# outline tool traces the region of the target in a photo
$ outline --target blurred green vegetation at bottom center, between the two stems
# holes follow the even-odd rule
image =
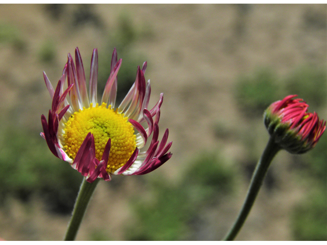
[[[196,239],[198,215],[233,192],[235,171],[217,153],[203,153],[189,166],[177,184],[153,180],[153,200],[131,200],[137,225],[126,229],[128,240]]]

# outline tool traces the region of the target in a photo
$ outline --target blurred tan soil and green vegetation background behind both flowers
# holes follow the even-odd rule
[[[244,201],[268,133],[268,105],[298,94],[327,119],[326,5],[0,5],[0,237],[61,240],[82,181],[52,155],[40,117],[67,53],[99,95],[114,47],[118,100],[148,61],[150,106],[172,158],[145,176],[100,182],[77,240],[220,240]],[[237,240],[326,240],[327,134],[279,152]]]

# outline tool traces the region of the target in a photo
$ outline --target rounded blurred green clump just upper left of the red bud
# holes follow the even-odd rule
[[[251,76],[241,76],[236,84],[235,97],[240,110],[248,117],[261,116],[278,100],[276,75],[269,68],[260,68]]]

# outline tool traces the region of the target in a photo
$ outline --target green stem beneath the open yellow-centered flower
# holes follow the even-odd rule
[[[89,183],[83,178],[80,190],[78,192],[78,196],[75,202],[73,214],[71,221],[69,222],[66,235],[64,240],[65,241],[73,241],[75,240],[76,234],[78,229],[81,225],[82,219],[84,217],[87,205],[92,197],[94,190],[99,183],[99,178],[97,178],[94,182]]]

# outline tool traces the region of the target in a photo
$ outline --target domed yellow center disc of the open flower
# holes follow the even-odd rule
[[[96,146],[96,158],[101,160],[108,139],[111,139],[111,149],[107,164],[107,172],[122,167],[136,148],[134,128],[124,117],[107,108],[107,104],[98,104],[76,111],[69,117],[65,126],[64,148],[69,157],[74,159],[86,135],[91,132]]]

